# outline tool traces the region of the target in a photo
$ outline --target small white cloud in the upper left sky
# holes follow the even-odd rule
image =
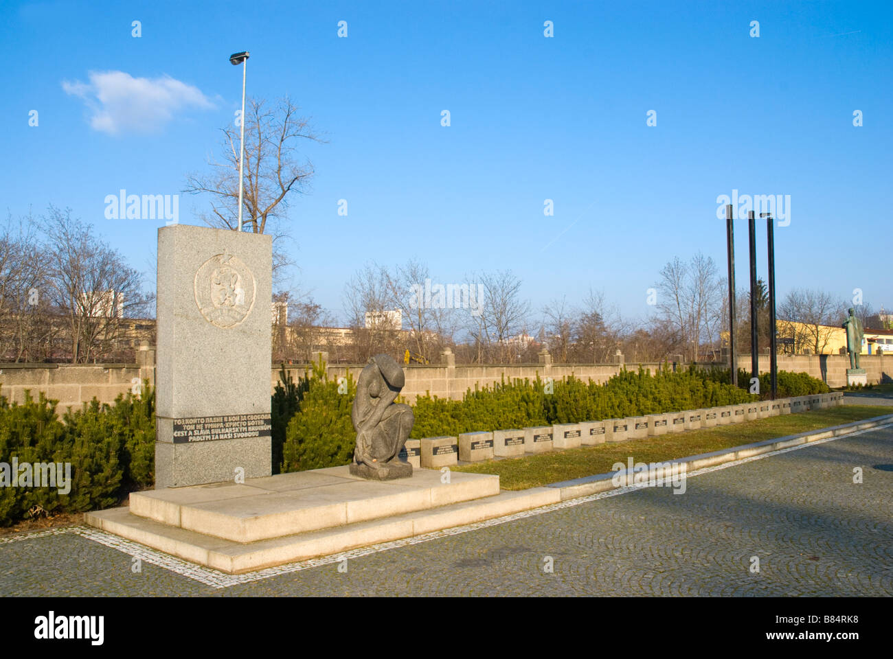
[[[63,80],[62,88],[84,100],[94,130],[110,134],[126,129],[153,131],[181,109],[213,108],[198,88],[167,75],[149,79],[124,71],[89,71],[88,76],[89,84]]]

